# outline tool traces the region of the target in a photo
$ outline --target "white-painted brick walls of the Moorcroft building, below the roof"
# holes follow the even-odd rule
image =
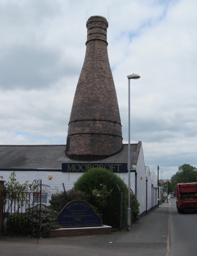
[[[144,157],[143,157],[143,149],[141,147],[139,152],[139,158],[136,166],[137,172],[137,199],[140,203],[139,210],[140,214],[146,211],[146,177],[148,179],[147,182],[147,210],[152,207],[152,184],[157,187],[157,175],[153,172],[152,175],[150,173],[150,169],[145,168]],[[147,169],[147,170],[146,170]],[[4,181],[9,180],[9,175],[11,171],[0,171],[0,176],[3,176]],[[65,185],[66,190],[70,190],[73,187],[73,183],[80,177],[83,173],[66,173],[60,171],[16,171],[16,179],[20,184],[32,183],[34,179],[41,179],[42,184],[47,186],[47,190],[56,190],[62,191],[63,185]],[[52,175],[52,179],[48,179],[48,176]],[[128,173],[118,173],[117,174],[128,186]],[[130,175],[131,189],[135,192],[135,173],[131,173]],[[48,187],[49,186],[49,187]]]

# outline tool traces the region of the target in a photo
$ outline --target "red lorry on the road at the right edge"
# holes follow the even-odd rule
[[[178,183],[175,194],[178,213],[197,212],[197,183]]]

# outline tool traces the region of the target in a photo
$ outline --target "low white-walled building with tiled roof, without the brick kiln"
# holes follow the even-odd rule
[[[91,166],[101,166],[114,171],[128,184],[128,144],[118,154],[100,161],[73,161],[65,155],[66,145],[0,145],[0,176],[8,181],[15,171],[20,184],[41,179],[46,190],[54,194],[72,188],[73,183]],[[140,203],[144,215],[157,205],[157,175],[145,166],[141,141],[131,144],[131,189]],[[123,169],[121,169],[123,166]],[[117,168],[118,167],[118,168]]]

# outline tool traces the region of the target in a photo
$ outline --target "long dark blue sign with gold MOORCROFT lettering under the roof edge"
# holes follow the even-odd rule
[[[115,173],[126,173],[127,164],[95,164],[95,163],[72,163],[72,164],[62,164],[63,172],[84,172],[92,168],[104,168]]]

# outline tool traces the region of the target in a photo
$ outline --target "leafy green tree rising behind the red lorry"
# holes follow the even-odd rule
[[[178,167],[178,171],[171,177],[171,183],[173,189],[177,186],[177,183],[190,183],[197,182],[197,168],[190,164],[183,164]]]

